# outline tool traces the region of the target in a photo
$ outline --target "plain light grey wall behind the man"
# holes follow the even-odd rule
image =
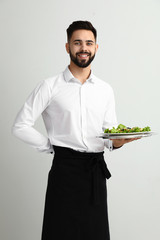
[[[159,131],[159,0],[0,0],[0,239],[39,240],[52,156],[11,135],[39,81],[63,71],[66,28],[89,20],[98,30],[94,73],[115,92],[118,121]],[[45,133],[40,119],[36,128]],[[111,240],[160,239],[159,136],[105,156]]]

